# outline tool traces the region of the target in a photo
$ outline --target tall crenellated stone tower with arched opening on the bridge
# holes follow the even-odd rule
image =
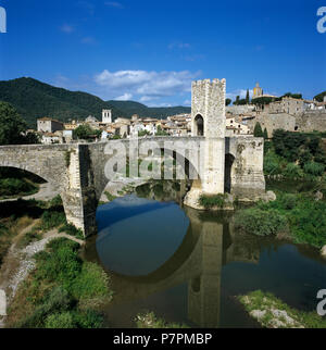
[[[225,173],[225,79],[192,83],[191,133],[204,137],[201,153],[201,189],[206,195],[224,193]]]

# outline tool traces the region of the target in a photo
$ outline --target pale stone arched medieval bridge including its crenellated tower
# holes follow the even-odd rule
[[[252,136],[225,137],[225,80],[195,82],[191,113],[192,137],[4,146],[0,147],[0,166],[26,170],[51,183],[61,193],[67,221],[86,236],[96,232],[98,202],[113,176],[108,168],[124,165],[125,155],[152,157],[164,149],[165,160],[173,157],[183,163],[185,175],[195,175],[185,199],[192,208],[198,208],[202,193],[226,191],[239,200],[263,196],[264,141]]]

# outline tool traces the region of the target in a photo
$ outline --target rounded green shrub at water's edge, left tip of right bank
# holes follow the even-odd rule
[[[235,225],[248,234],[268,236],[285,230],[287,220],[275,209],[264,211],[251,208],[236,213]]]

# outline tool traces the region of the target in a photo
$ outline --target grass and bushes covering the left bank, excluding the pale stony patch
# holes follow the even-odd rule
[[[17,200],[0,203],[0,268],[11,247],[17,252],[14,270],[22,259],[24,261],[20,255],[38,241],[47,242],[49,233],[53,232],[54,237],[49,237],[45,250],[32,254],[35,266],[20,283],[9,304],[4,326],[102,327],[103,316],[99,308],[112,299],[110,279],[100,265],[79,257],[84,236],[66,223],[61,198],[58,196],[49,202]],[[24,228],[27,232],[20,235]]]

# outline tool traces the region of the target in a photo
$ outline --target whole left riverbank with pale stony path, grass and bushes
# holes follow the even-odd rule
[[[0,264],[0,289],[7,295],[8,316],[0,320],[0,327],[4,327],[4,323],[5,327],[100,327],[102,317],[96,308],[102,297],[105,301],[112,297],[109,278],[99,265],[79,258],[79,248],[85,241],[78,238],[82,238],[79,230],[67,225],[61,199],[18,200],[1,205],[0,238],[7,250],[2,252]],[[9,227],[13,223],[15,229]],[[74,284],[80,283],[80,286],[70,290],[62,276],[74,276]],[[57,298],[63,298],[60,310],[71,314],[53,315],[52,307],[53,312],[47,309],[51,302],[58,305]],[[29,318],[38,317],[42,308],[48,311],[33,323]],[[55,323],[57,316],[61,324]]]

